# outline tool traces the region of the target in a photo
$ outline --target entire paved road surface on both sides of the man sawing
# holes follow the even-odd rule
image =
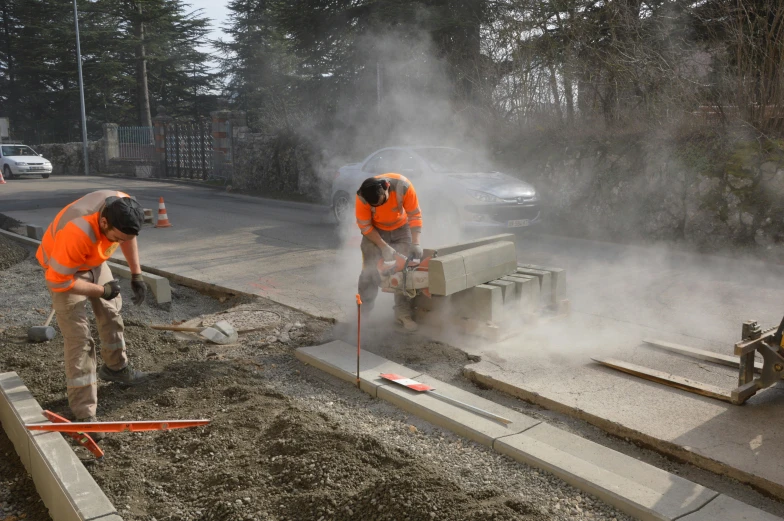
[[[46,226],[68,202],[109,187],[127,190],[148,208],[166,199],[174,227],[144,230],[143,263],[315,315],[350,319],[356,312],[358,248],[344,245],[324,207],[157,181],[74,177],[9,182],[0,192],[0,213]],[[439,245],[427,235],[423,240]],[[767,327],[781,320],[784,267],[537,234],[522,236],[517,251],[520,263],[567,270],[573,314],[499,344],[442,338],[482,358],[470,367],[477,378],[784,497],[784,469],[773,457],[784,442],[784,420],[776,415],[784,393],[773,388],[743,407],[730,406],[590,361],[612,356],[729,388],[732,370],[665,355],[641,340],[731,354],[744,320]],[[380,315],[389,307],[376,309]]]

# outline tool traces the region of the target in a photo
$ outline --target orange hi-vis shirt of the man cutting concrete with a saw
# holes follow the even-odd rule
[[[389,198],[381,206],[370,206],[357,193],[355,213],[357,226],[362,235],[367,235],[374,228],[379,230],[397,230],[408,223],[412,231],[422,230],[422,210],[411,181],[400,174],[381,174],[377,179],[389,181]]]

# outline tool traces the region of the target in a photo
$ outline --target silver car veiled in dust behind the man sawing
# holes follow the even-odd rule
[[[394,172],[414,184],[422,214],[463,228],[523,228],[540,222],[533,186],[484,167],[474,156],[448,147],[389,147],[340,168],[332,181],[332,212],[339,223],[354,219],[362,181]]]

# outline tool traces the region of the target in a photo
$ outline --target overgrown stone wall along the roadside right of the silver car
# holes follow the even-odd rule
[[[572,234],[784,249],[784,151],[731,147],[572,144],[519,166],[550,225]]]

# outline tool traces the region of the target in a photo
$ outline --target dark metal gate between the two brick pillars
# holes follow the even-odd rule
[[[164,127],[166,177],[207,179],[214,168],[209,121],[168,123]]]

